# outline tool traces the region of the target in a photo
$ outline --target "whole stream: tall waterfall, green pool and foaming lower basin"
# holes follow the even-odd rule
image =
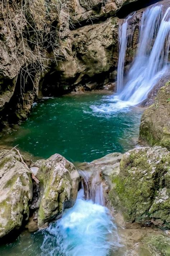
[[[117,95],[90,92],[41,99],[20,127],[1,135],[1,143],[18,145],[38,158],[59,153],[71,162],[90,162],[137,147],[143,109],[136,106],[146,100],[169,67],[169,13],[167,8],[162,15],[161,5],[143,12],[139,47],[126,77],[126,31],[132,16],[124,20],[119,35]],[[85,200],[80,189],[74,207],[65,210],[61,219],[44,230],[23,231],[10,238],[0,246],[0,255],[160,255],[145,249],[141,254],[135,251],[143,235],[158,231],[124,230],[121,217],[114,217],[102,203]]]

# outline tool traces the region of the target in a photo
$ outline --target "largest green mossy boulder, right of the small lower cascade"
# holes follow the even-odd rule
[[[126,221],[170,228],[170,152],[139,147],[123,154],[120,172],[112,175],[109,198]]]

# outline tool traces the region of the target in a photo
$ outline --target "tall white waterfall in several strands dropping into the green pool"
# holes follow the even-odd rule
[[[162,5],[148,8],[142,15],[139,46],[123,84],[124,58],[127,47],[127,21],[121,27],[117,93],[125,105],[138,105],[147,98],[156,82],[166,73],[170,46],[170,8],[162,18]],[[154,44],[153,44],[154,42]],[[153,46],[152,46],[153,45]]]

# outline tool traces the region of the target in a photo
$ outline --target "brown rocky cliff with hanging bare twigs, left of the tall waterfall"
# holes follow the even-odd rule
[[[116,13],[132,1],[3,1],[0,126],[26,118],[42,93],[103,84],[117,66]]]

